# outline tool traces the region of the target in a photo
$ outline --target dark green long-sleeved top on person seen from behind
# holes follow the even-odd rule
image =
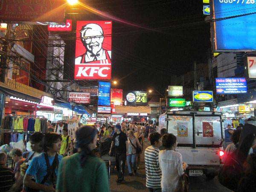
[[[79,153],[64,157],[58,170],[57,189],[58,192],[110,192],[105,162],[99,157],[88,157],[81,167]]]

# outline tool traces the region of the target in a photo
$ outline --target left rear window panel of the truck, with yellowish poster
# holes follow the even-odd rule
[[[193,144],[192,116],[168,116],[168,133],[177,137],[179,144]]]

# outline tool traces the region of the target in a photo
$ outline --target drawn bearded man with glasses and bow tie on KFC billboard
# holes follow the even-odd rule
[[[104,32],[101,26],[95,23],[82,26],[80,38],[86,48],[86,52],[76,58],[76,64],[111,59],[111,51],[102,48]]]

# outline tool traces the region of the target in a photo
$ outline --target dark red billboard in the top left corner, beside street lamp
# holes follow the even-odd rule
[[[66,0],[1,0],[0,20],[63,22]]]

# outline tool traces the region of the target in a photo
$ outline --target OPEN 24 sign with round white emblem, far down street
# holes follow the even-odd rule
[[[148,93],[146,91],[130,91],[126,94],[127,105],[148,105]]]

